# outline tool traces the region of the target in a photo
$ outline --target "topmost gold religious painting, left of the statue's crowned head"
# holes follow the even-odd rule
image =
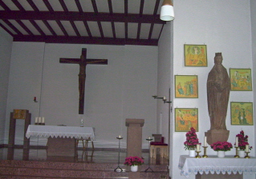
[[[184,45],[185,66],[207,66],[206,45]]]

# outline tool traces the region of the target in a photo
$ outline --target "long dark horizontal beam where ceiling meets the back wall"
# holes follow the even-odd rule
[[[46,42],[46,43],[71,43],[71,44],[101,44],[101,45],[138,45],[157,46],[158,40],[134,38],[90,38],[90,37],[66,37],[66,36],[41,36],[41,35],[14,35],[14,42]]]

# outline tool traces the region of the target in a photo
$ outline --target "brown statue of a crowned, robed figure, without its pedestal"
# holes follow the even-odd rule
[[[208,74],[207,101],[210,129],[226,129],[226,112],[230,97],[230,78],[221,64],[221,53],[216,53],[215,65]]]

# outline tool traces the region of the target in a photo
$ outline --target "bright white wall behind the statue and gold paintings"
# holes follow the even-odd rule
[[[199,97],[196,99],[174,98],[176,108],[198,108],[199,132],[202,141],[209,130],[206,81],[213,68],[216,52],[221,52],[223,66],[230,68],[253,68],[251,54],[250,1],[174,1],[175,20],[173,21],[173,73],[180,75],[198,75]],[[239,10],[239,13],[238,13]],[[184,44],[207,45],[208,67],[185,67]],[[252,71],[254,71],[252,69]],[[174,81],[174,76],[172,77]],[[174,88],[174,87],[173,87]],[[230,92],[230,101],[253,101],[253,92]],[[174,115],[174,114],[173,114]],[[173,125],[174,125],[174,121]],[[254,146],[254,125],[230,125],[230,104],[226,116],[226,126],[230,130],[229,141],[234,144],[235,135],[241,129],[249,135],[250,145]],[[188,154],[184,149],[185,133],[173,132],[173,179],[181,178],[178,169],[179,156]],[[213,149],[207,154],[216,155]],[[232,149],[227,155],[234,155]],[[254,151],[250,153],[254,156]],[[191,177],[193,178],[193,176]]]

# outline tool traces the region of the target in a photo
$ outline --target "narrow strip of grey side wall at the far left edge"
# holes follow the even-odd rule
[[[10,54],[13,38],[0,27],[0,144],[3,144],[8,82],[10,72]]]

